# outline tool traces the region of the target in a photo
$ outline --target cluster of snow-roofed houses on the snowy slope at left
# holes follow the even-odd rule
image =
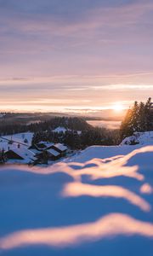
[[[0,137],[0,163],[48,164],[70,153],[62,143],[41,141],[31,145],[32,137],[33,132]]]

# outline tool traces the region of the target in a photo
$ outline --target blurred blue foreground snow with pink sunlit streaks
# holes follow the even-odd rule
[[[153,146],[0,167],[0,255],[152,256]]]

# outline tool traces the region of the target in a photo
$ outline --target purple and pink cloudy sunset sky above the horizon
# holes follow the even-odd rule
[[[0,0],[0,110],[100,112],[153,96],[152,0]]]

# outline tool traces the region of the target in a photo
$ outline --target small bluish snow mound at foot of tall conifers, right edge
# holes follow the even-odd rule
[[[153,145],[153,131],[134,132],[133,136],[126,137],[121,145]]]

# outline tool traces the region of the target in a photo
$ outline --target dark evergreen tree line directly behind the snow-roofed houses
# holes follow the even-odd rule
[[[92,145],[116,145],[119,131],[99,127],[90,127],[81,133],[76,130],[65,132],[37,131],[32,138],[32,146],[47,141],[50,143],[64,143],[72,150],[84,149]]]

